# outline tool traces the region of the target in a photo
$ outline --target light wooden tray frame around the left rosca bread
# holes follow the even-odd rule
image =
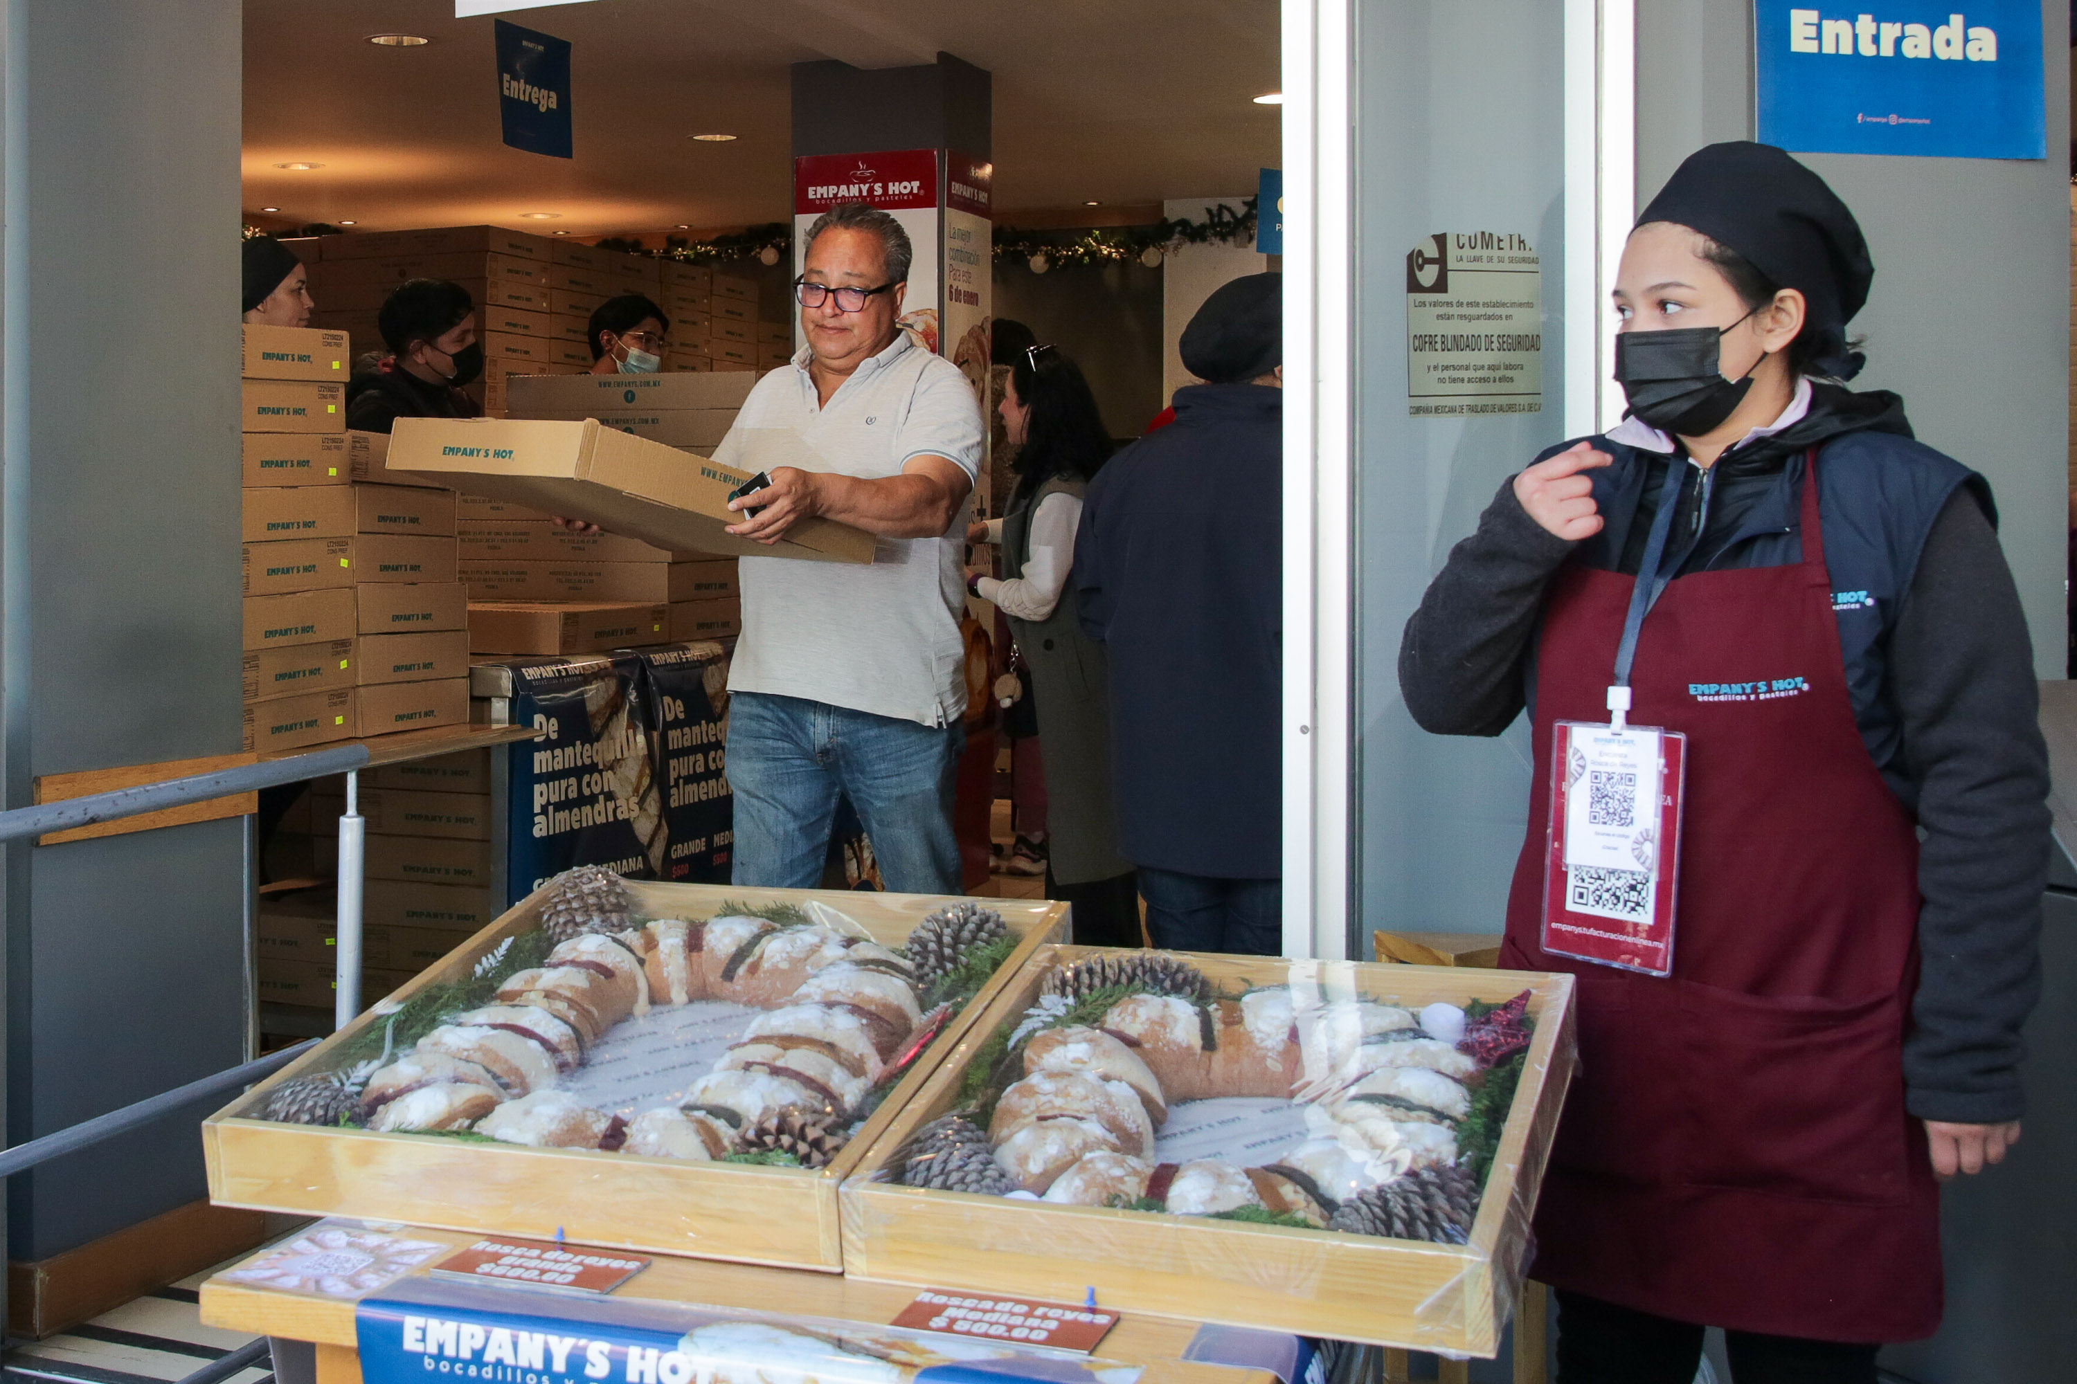
[[[629,888],[650,911],[685,911],[692,917],[714,913],[723,901],[756,907],[820,898],[885,944],[903,942],[926,913],[949,903],[930,894],[710,884],[629,882]],[[430,984],[467,975],[498,942],[538,925],[542,896],[544,890],[536,890],[393,998],[407,1000]],[[380,1023],[378,1015],[366,1013],[201,1125],[210,1199],[299,1216],[359,1216],[542,1239],[561,1230],[586,1245],[839,1272],[837,1185],[922,1091],[937,1060],[957,1046],[995,990],[1066,930],[1063,903],[980,903],[1003,915],[1020,938],[1018,950],[916,1058],[827,1168],[679,1162],[251,1118],[282,1081],[305,1071],[330,1071],[334,1050]]]

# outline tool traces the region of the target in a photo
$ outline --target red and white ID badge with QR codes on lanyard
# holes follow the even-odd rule
[[[1543,950],[1670,975],[1687,737],[1560,720],[1543,853]]]

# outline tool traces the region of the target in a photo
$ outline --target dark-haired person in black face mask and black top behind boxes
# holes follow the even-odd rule
[[[390,355],[347,382],[347,427],[388,432],[401,417],[476,417],[463,390],[484,376],[476,299],[444,278],[413,278],[388,295],[376,328]]]

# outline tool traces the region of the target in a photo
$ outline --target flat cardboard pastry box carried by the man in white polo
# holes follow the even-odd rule
[[[636,378],[696,380],[698,376]],[[802,456],[806,444],[798,436],[781,430],[760,432],[791,440],[793,450],[783,450],[785,444],[773,438],[768,450],[773,465],[808,461]],[[638,537],[671,552],[818,562],[872,560],[870,533],[827,519],[806,519],[768,548],[729,535],[727,525],[741,523],[741,515],[729,508],[729,496],[750,479],[748,471],[733,471],[660,442],[613,432],[596,421],[397,419],[390,463],[422,475],[451,475],[457,488],[476,494],[588,519],[606,533]]]

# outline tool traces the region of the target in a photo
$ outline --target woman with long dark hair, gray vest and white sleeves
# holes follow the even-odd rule
[[[1138,946],[1138,884],[1111,826],[1103,645],[1082,635],[1068,583],[1082,492],[1111,438],[1080,367],[1055,347],[1028,347],[1011,363],[1001,417],[1020,446],[1018,486],[1003,517],[972,525],[968,542],[999,544],[1003,575],[970,573],[966,589],[1009,616],[1030,668],[1049,803],[1047,898],[1074,907],[1078,944]]]

